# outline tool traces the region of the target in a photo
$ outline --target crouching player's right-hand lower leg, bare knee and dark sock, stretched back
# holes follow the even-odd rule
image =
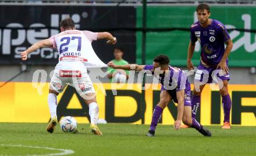
[[[212,136],[211,132],[204,128],[195,118],[191,117],[191,107],[190,106],[184,106],[184,113],[182,121],[184,124],[191,126],[191,128],[195,128],[204,136]]]

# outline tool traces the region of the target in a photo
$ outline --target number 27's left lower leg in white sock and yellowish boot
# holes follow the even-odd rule
[[[51,113],[51,121],[47,126],[47,132],[54,132],[55,126],[58,124],[56,109],[57,109],[57,96],[55,93],[49,93],[48,95],[48,105]]]

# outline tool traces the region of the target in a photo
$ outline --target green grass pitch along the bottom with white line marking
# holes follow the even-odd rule
[[[88,124],[79,124],[79,134],[64,133],[59,125],[49,134],[46,126],[0,123],[0,155],[61,155],[59,148],[74,152],[69,155],[256,155],[253,126],[207,126],[212,137],[172,125],[158,125],[155,137],[145,136],[148,125],[98,125],[103,136],[91,134]]]

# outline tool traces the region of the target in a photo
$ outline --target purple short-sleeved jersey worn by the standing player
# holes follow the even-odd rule
[[[199,41],[201,45],[201,63],[217,66],[225,52],[224,43],[230,39],[225,26],[218,20],[203,28],[199,21],[191,26],[190,41]]]

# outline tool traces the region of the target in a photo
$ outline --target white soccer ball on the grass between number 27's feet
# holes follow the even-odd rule
[[[76,119],[70,116],[62,118],[60,125],[63,132],[73,132],[77,128]]]

